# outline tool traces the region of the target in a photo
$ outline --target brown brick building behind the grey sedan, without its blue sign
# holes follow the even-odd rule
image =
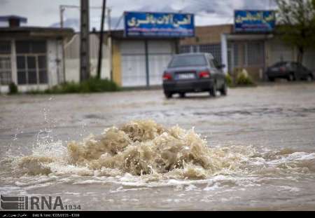
[[[181,40],[180,53],[212,53],[225,72],[244,68],[256,81],[264,79],[267,67],[279,61],[296,61],[297,50],[286,46],[271,32],[236,31],[235,25],[195,28],[195,37]],[[307,50],[303,64],[315,71],[315,50]]]

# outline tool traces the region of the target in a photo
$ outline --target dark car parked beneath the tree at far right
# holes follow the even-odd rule
[[[274,81],[274,79],[288,79],[288,81],[314,79],[312,71],[297,62],[277,62],[266,71],[267,79]]]

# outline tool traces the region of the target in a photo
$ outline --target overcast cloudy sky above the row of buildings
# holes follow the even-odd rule
[[[27,25],[58,27],[59,5],[80,5],[80,0],[0,0],[0,15],[20,15],[28,19]],[[90,0],[90,6],[101,7],[102,0]],[[183,11],[195,13],[195,24],[218,25],[233,22],[235,9],[274,8],[274,0],[107,0],[112,9],[111,26],[116,27],[123,11]],[[101,8],[90,9],[90,27],[99,29]],[[78,30],[78,8],[66,8],[64,23]],[[123,27],[120,22],[118,28]],[[107,25],[106,25],[107,28]]]

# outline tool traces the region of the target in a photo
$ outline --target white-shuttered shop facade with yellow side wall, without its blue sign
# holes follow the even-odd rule
[[[148,87],[162,85],[162,74],[178,53],[179,39],[125,37],[123,31],[114,31],[111,44],[113,81],[122,87]]]

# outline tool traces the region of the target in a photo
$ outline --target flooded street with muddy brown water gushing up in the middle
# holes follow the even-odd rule
[[[315,210],[315,83],[0,96],[0,164],[81,210]]]

